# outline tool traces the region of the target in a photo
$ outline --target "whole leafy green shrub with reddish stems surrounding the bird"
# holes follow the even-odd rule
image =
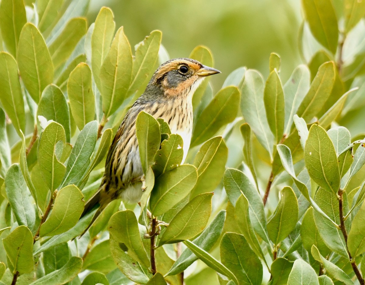
[[[108,8],[88,27],[89,0],[25,2],[0,2],[0,284],[364,284],[364,134],[338,125],[364,105],[363,1],[302,2],[307,65],[284,85],[274,53],[266,82],[241,67],[213,95],[206,79],[189,164],[140,113],[141,207],[114,200],[80,239],[113,133],[169,56],[160,31],[132,56]]]

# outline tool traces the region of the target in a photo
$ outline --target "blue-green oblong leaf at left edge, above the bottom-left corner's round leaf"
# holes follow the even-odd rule
[[[19,225],[33,229],[35,225],[34,205],[18,163],[11,165],[5,176],[5,190],[10,206]]]

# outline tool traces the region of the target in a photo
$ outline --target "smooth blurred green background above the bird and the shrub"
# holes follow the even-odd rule
[[[211,81],[215,90],[240,66],[267,77],[271,52],[281,56],[284,82],[302,63],[298,0],[92,0],[89,23],[102,6],[112,9],[116,27],[124,26],[132,46],[157,29],[171,58],[187,57],[198,45],[210,48],[215,67],[223,73]]]

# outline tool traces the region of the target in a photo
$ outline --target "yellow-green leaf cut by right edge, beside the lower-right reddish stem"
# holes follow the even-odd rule
[[[365,252],[364,213],[365,204],[362,203],[360,210],[352,220],[351,229],[347,238],[347,248],[353,258]]]

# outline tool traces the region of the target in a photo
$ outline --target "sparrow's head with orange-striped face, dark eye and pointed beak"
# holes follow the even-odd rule
[[[176,58],[158,67],[149,85],[154,90],[159,89],[166,97],[187,97],[193,95],[205,77],[216,73],[220,71],[197,60]]]

